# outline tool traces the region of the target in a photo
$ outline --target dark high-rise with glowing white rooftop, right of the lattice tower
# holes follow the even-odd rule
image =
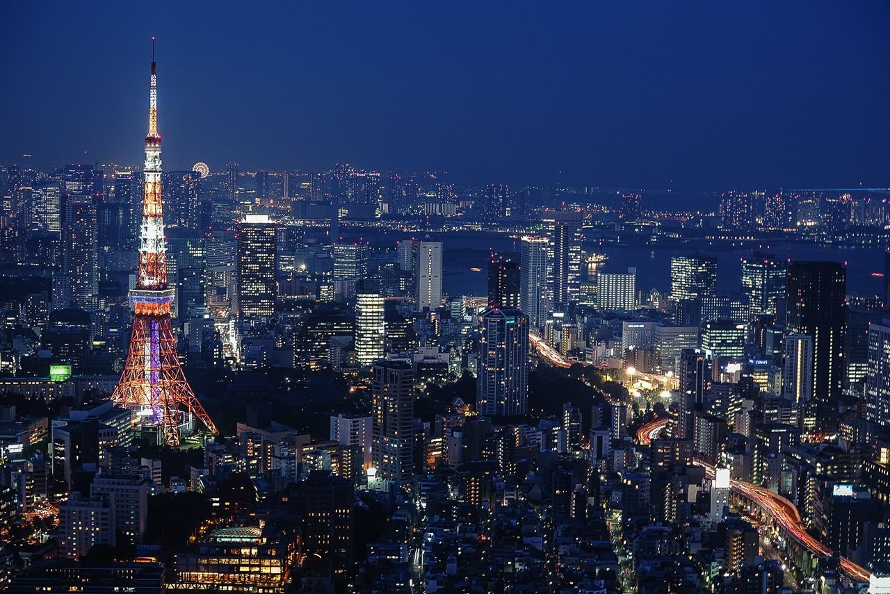
[[[238,227],[238,312],[242,319],[275,315],[278,285],[275,223],[266,214],[247,214]]]

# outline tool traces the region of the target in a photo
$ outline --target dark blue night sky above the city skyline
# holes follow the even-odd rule
[[[0,20],[0,158],[458,182],[888,185],[890,3],[35,3]]]

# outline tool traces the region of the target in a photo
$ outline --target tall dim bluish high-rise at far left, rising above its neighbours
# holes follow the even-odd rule
[[[69,279],[70,304],[80,309],[98,305],[98,226],[95,197],[62,195],[61,271]]]

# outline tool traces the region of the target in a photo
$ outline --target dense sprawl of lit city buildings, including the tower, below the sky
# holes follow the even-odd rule
[[[0,175],[0,587],[890,591],[890,256],[705,251],[870,245],[886,197],[161,172],[152,76],[142,171]],[[458,231],[515,239],[485,295]],[[661,291],[598,251],[676,238]]]

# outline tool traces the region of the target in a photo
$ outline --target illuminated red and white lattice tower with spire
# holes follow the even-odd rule
[[[124,371],[111,399],[134,409],[142,421],[157,424],[168,446],[179,446],[179,428],[188,414],[216,433],[182,373],[170,307],[174,289],[167,286],[164,205],[161,199],[161,137],[158,134],[158,80],[155,38],[151,38],[149,135],[145,137],[145,194],[139,234],[139,277],[130,293],[133,333]]]

